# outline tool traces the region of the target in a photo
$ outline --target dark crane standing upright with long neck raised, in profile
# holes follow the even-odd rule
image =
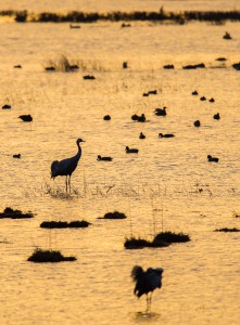
[[[63,160],[54,160],[51,165],[51,178],[54,180],[58,176],[65,176],[66,177],[66,193],[67,193],[67,185],[71,192],[71,176],[74,170],[77,168],[77,164],[81,156],[81,147],[80,142],[85,142],[83,139],[77,139],[77,147],[78,152],[75,156],[71,158],[66,158]],[[68,177],[68,179],[67,179]]]

